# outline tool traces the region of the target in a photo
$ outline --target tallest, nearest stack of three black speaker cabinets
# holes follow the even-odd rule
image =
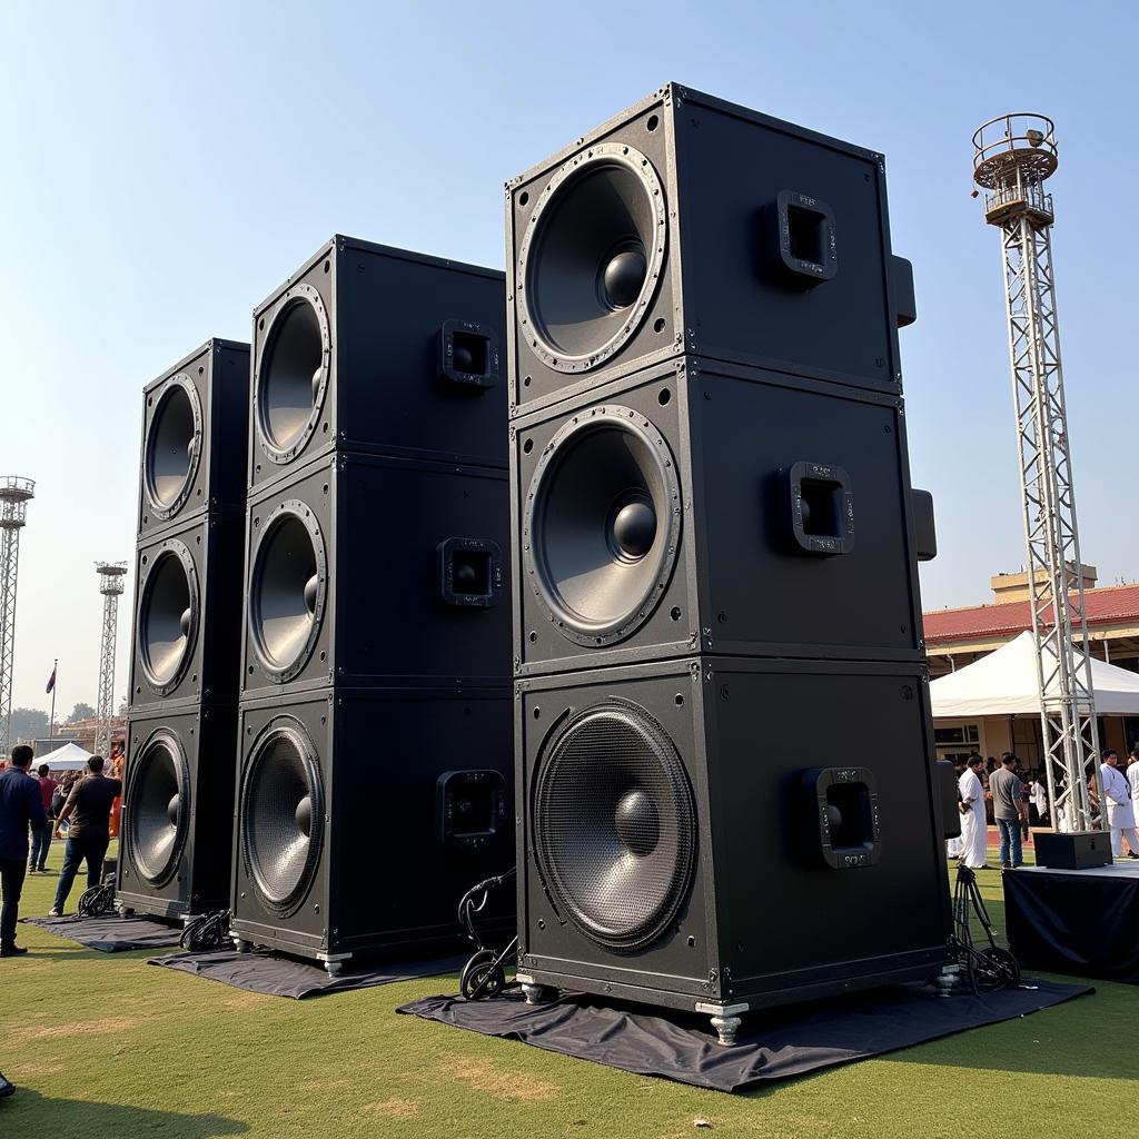
[[[519,966],[713,1017],[950,933],[883,158],[669,85],[507,186]]]

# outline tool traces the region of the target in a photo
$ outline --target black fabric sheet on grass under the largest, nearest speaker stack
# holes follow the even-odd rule
[[[1090,985],[1052,981],[1029,980],[1024,985],[983,997],[940,997],[926,986],[896,985],[761,1010],[744,1016],[730,1048],[716,1042],[706,1016],[647,1011],[579,993],[538,1006],[527,1006],[521,993],[510,991],[485,1001],[427,997],[398,1011],[622,1072],[739,1091],[1011,1021],[1095,991]]]

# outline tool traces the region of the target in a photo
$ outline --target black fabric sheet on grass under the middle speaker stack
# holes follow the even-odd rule
[[[330,977],[322,965],[316,961],[298,961],[292,957],[255,949],[248,953],[236,950],[218,950],[207,953],[171,953],[151,958],[148,965],[161,965],[167,969],[191,973],[196,977],[220,981],[235,989],[265,993],[269,997],[321,997],[325,993],[351,992],[354,989],[372,989],[398,981],[416,981],[446,973],[458,973],[465,957],[436,958],[431,961],[401,961],[399,964],[366,966],[345,969],[338,977]]]

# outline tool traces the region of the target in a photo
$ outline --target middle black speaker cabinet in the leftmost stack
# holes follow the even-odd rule
[[[244,518],[199,516],[136,554],[131,711],[236,699],[240,681]]]

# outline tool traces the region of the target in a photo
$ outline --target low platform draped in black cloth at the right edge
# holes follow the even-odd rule
[[[1033,969],[1139,984],[1139,867],[1007,870],[1008,943]]]

